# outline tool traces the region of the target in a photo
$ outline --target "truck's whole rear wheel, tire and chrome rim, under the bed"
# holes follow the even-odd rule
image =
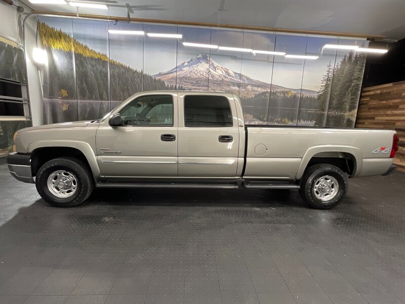
[[[316,164],[304,173],[300,195],[315,209],[331,209],[343,200],[348,188],[346,174],[330,164]]]

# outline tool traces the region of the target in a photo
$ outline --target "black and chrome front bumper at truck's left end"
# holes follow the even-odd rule
[[[9,167],[10,174],[16,179],[35,183],[32,172],[31,172],[31,156],[20,154],[20,153],[10,153],[7,156],[7,166]]]

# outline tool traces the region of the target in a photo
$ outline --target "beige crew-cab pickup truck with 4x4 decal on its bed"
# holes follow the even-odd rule
[[[298,189],[314,208],[344,198],[348,177],[388,175],[389,130],[245,125],[239,97],[140,92],[97,121],[19,130],[10,173],[53,206],[94,187]]]

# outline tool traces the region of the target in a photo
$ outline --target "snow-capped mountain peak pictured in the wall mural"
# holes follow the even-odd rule
[[[152,75],[154,78],[163,80],[167,85],[181,83],[187,90],[207,90],[207,79],[210,80],[211,91],[223,90],[224,84],[235,84],[240,87],[241,97],[253,97],[263,91],[291,91],[295,94],[316,96],[317,92],[305,89],[292,89],[275,84],[265,83],[249,77],[248,75],[235,72],[216,62],[208,54],[199,54],[188,61],[165,72]]]

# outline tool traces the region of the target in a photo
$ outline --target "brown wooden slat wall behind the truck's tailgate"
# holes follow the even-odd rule
[[[395,130],[399,149],[394,164],[405,172],[405,81],[363,88],[356,128]]]

